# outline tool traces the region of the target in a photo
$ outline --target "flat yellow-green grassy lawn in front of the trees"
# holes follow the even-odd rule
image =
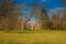
[[[0,44],[66,44],[66,31],[0,31]]]

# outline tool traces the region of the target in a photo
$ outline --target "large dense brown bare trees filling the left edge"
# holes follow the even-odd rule
[[[0,3],[0,30],[18,30],[20,29],[18,6],[12,0],[3,0]]]

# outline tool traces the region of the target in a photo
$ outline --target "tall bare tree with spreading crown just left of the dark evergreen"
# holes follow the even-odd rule
[[[40,6],[38,2],[34,2],[31,6],[32,13],[36,16],[36,23],[37,23],[38,30],[41,30],[43,28],[43,24],[41,24],[41,23],[44,23],[43,18],[44,18],[45,11],[43,11],[42,9],[44,9],[45,7],[46,7],[46,3],[43,3],[42,6]],[[42,11],[44,13],[42,13]]]

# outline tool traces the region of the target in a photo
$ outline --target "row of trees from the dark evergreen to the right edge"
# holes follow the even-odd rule
[[[48,18],[47,12],[45,10],[41,10],[41,14],[38,13],[40,16],[37,15],[38,24],[41,25],[38,28],[42,30],[66,30],[66,9],[63,9],[62,12],[63,14],[52,13]]]

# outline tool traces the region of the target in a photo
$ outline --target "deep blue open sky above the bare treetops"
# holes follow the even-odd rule
[[[46,3],[47,9],[54,9],[54,8],[66,8],[66,4],[62,3],[62,0],[14,0],[15,3],[29,3],[32,4],[33,2],[38,2],[40,4]]]

